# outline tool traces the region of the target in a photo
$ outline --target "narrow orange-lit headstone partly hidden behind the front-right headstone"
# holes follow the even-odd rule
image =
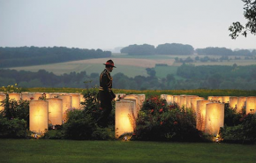
[[[197,101],[197,129],[204,131],[206,128],[206,112],[207,103],[211,103],[211,100],[198,100]]]

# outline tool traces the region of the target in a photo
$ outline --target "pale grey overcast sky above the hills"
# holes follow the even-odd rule
[[[231,40],[241,0],[0,0],[0,47],[111,49],[133,44],[256,48]]]

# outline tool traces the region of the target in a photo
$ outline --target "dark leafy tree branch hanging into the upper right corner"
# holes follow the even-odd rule
[[[232,26],[229,27],[230,37],[237,39],[238,33],[242,33],[246,37],[247,33],[256,35],[256,0],[242,0],[245,3],[244,16],[247,19],[245,26],[241,25],[240,22],[233,22]]]

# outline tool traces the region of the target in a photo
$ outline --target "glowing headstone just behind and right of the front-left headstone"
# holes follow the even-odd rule
[[[59,98],[49,98],[49,121],[52,125],[61,125],[63,122],[63,101]]]

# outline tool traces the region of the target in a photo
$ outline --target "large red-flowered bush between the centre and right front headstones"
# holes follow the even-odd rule
[[[167,105],[166,100],[151,97],[139,111],[134,139],[200,141],[201,133],[195,129],[192,109]]]

